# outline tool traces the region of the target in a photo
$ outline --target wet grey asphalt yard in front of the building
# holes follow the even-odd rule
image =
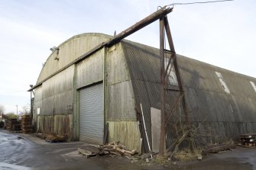
[[[8,133],[0,129],[0,170],[66,170],[66,169],[204,169],[256,170],[256,147],[237,148],[210,154],[201,161],[177,162],[167,165],[131,162],[122,157],[86,159],[77,148],[83,142],[47,143],[34,135]]]

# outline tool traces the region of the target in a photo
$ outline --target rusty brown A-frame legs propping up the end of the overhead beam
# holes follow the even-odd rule
[[[166,149],[166,117],[168,117],[168,119],[170,118],[171,114],[168,114],[166,116],[166,112],[165,112],[165,88],[166,85],[168,84],[168,76],[170,75],[170,71],[168,71],[169,69],[171,70],[172,66],[174,66],[174,71],[175,71],[175,75],[177,77],[177,82],[178,82],[178,86],[179,86],[179,98],[177,98],[177,101],[172,104],[172,109],[171,112],[173,112],[175,110],[175,108],[177,108],[177,105],[180,103],[180,99],[182,100],[182,107],[183,107],[183,112],[186,115],[186,122],[189,123],[189,119],[187,117],[187,113],[186,113],[186,101],[185,101],[185,96],[184,96],[184,90],[183,90],[183,82],[180,76],[180,70],[178,67],[178,63],[177,63],[177,55],[174,49],[174,45],[173,45],[173,38],[171,36],[170,33],[170,26],[168,23],[168,19],[167,19],[167,15],[164,15],[163,17],[161,17],[159,19],[159,23],[160,23],[160,143],[159,143],[159,156],[164,156],[164,152]],[[164,34],[167,34],[167,40],[169,43],[169,47],[170,47],[170,52],[171,52],[171,56],[170,59],[167,63],[167,66],[165,66],[165,47],[164,47]],[[173,111],[172,111],[173,110]]]

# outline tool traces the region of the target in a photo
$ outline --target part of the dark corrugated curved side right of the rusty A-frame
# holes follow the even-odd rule
[[[250,83],[256,79],[184,56],[179,61],[190,114],[202,122],[202,143],[238,140],[239,134],[256,131],[256,93]]]

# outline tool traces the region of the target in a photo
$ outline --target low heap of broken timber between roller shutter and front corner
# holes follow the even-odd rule
[[[108,143],[102,146],[87,145],[83,148],[79,148],[78,152],[81,153],[86,158],[93,156],[125,156],[127,159],[132,159],[131,156],[134,156],[136,153],[135,150],[128,150],[125,146],[122,146],[119,143]]]

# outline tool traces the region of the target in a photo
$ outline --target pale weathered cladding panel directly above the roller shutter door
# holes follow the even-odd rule
[[[103,56],[104,49],[99,50],[77,64],[77,88],[102,81]]]

